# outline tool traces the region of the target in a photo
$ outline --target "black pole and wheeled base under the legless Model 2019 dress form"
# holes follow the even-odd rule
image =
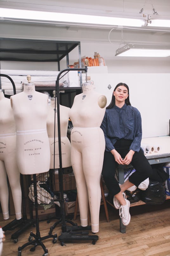
[[[42,247],[42,249],[44,250],[44,254],[42,256],[48,255],[48,250],[45,247],[45,245],[42,243],[43,240],[48,239],[48,238],[53,238],[53,244],[56,243],[57,241],[57,234],[55,233],[55,235],[48,235],[45,237],[41,237],[40,236],[40,230],[39,230],[39,219],[38,219],[38,200],[37,200],[37,187],[36,187],[36,174],[33,174],[33,183],[34,183],[34,197],[35,197],[35,210],[36,210],[36,234],[34,234],[32,231],[30,232],[30,236],[28,238],[29,242],[19,246],[18,247],[18,256],[21,256],[21,251],[29,245],[34,245],[30,251],[34,252],[36,249],[37,245],[40,245]],[[34,240],[32,240],[33,238],[35,238]]]

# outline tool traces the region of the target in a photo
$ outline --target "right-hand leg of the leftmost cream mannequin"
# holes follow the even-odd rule
[[[10,188],[12,191],[16,219],[18,220],[22,218],[22,192],[20,185],[20,173],[16,164],[15,154],[13,156],[10,155],[10,157],[8,157],[8,160],[5,161],[5,167],[10,183]]]

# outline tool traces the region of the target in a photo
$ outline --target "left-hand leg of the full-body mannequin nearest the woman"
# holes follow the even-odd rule
[[[88,225],[88,191],[82,168],[82,154],[73,147],[71,148],[71,163],[75,174],[81,225],[86,227]]]

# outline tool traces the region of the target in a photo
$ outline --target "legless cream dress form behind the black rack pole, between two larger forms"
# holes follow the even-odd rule
[[[57,107],[57,103],[56,103]],[[61,130],[61,149],[62,149],[62,167],[71,166],[71,144],[67,137],[67,128],[69,123],[70,108],[60,105],[60,130]],[[51,104],[48,107],[47,133],[50,144],[50,169],[54,168],[54,117],[55,117],[55,97],[51,98]],[[58,129],[55,129],[55,169],[59,168],[59,149],[58,149]]]

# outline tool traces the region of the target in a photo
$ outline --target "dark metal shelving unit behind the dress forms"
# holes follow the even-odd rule
[[[79,63],[81,68],[81,47],[79,41],[56,41],[38,39],[14,39],[0,38],[0,62],[1,61],[29,61],[29,62],[57,62],[60,71],[60,61],[66,57],[66,68],[69,65],[69,53],[78,47]],[[1,64],[0,64],[1,68]],[[56,77],[57,78],[57,77]],[[82,73],[80,71],[80,84]],[[53,91],[54,87],[38,87],[37,91]],[[81,87],[60,88],[65,94],[79,94]],[[71,103],[70,99],[69,102]],[[62,97],[61,97],[62,104]]]

